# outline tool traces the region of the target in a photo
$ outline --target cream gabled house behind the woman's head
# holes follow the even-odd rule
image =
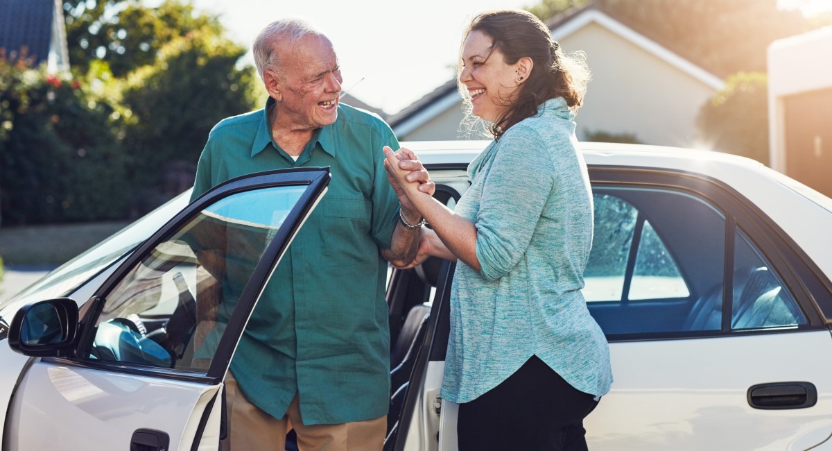
[[[696,116],[724,87],[719,77],[644,37],[592,5],[548,23],[564,52],[587,53],[592,70],[577,135],[629,134],[646,144],[696,146]],[[449,81],[388,118],[402,141],[463,136],[456,82]]]

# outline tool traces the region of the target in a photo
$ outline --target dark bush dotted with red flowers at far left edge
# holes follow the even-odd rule
[[[3,224],[123,216],[111,196],[124,190],[113,108],[90,81],[49,75],[25,57],[0,57],[0,80]]]

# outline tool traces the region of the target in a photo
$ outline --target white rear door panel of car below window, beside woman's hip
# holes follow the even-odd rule
[[[819,354],[832,355],[826,330],[611,343],[615,382],[585,421],[587,443],[597,450],[774,450],[806,434],[825,440],[832,359]],[[815,384],[817,404],[750,407],[752,385],[789,381]]]

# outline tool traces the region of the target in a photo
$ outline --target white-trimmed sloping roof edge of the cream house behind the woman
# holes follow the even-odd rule
[[[725,83],[719,77],[687,61],[685,58],[676,55],[676,53],[667,50],[657,42],[627,27],[622,22],[618,22],[612,17],[607,16],[607,14],[599,11],[592,3],[587,6],[572,8],[552,17],[552,19],[547,21],[547,26],[552,30],[552,39],[559,41],[573,32],[577,32],[577,30],[587,26],[591,22],[596,22],[608,31],[631,42],[636,47],[641,47],[645,52],[667,62],[708,87],[721,90],[725,86]],[[438,114],[447,111],[448,108],[458,105],[460,98],[456,86],[455,79],[449,80],[409,107],[405,107],[402,111],[390,116],[388,123],[393,127],[396,135],[404,136],[430,121],[433,117],[438,116]]]

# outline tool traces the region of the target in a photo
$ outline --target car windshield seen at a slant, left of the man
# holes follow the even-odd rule
[[[11,299],[0,302],[0,310],[12,303],[29,303],[72,295],[72,292],[87,280],[100,274],[164,226],[176,213],[187,206],[190,197],[191,190],[187,190],[171,201],[167,201],[98,245],[44,275],[42,279],[29,285]]]

